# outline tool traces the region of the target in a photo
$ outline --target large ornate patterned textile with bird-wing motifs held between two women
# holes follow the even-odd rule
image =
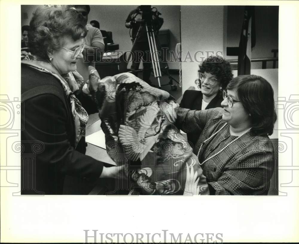
[[[178,104],[168,92],[130,73],[100,80],[90,67],[89,89],[97,102],[106,148],[127,164],[129,188],[138,194],[209,194],[206,177],[173,125]]]

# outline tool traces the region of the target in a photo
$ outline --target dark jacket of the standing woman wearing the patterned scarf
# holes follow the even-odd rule
[[[21,93],[22,194],[62,194],[65,175],[98,178],[103,163],[84,155],[84,137],[74,149],[74,119],[60,81],[22,64]]]

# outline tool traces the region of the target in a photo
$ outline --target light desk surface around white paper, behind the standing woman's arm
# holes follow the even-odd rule
[[[86,125],[86,136],[91,135],[92,133],[97,132],[99,130],[101,130],[101,121],[98,113],[89,115],[89,120]],[[94,146],[91,143],[87,143],[86,155],[91,156],[104,163],[116,165],[115,162],[111,159],[111,157],[109,157],[105,149],[98,146]]]

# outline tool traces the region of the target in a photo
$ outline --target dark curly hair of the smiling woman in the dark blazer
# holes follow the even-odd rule
[[[222,89],[225,89],[228,82],[233,78],[231,64],[221,56],[209,56],[201,64],[199,64],[199,73],[211,73],[215,75],[220,82]],[[198,80],[197,80],[198,81]],[[201,87],[201,82],[199,82]]]

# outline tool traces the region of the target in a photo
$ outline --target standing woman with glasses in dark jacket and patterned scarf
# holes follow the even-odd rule
[[[75,96],[83,86],[76,72],[85,44],[83,22],[81,13],[65,6],[39,7],[30,21],[32,55],[21,65],[21,140],[22,156],[33,154],[35,161],[22,160],[22,194],[67,194],[66,175],[83,184],[74,194],[86,194],[86,182],[120,170],[85,155],[88,115]]]

